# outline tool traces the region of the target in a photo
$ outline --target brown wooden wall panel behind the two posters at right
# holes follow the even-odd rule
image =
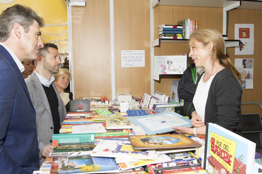
[[[242,102],[258,102],[262,104],[262,10],[234,9],[229,11],[228,37],[234,39],[235,23],[254,23],[254,55],[234,55],[235,48],[228,48],[230,59],[235,63],[235,58],[254,59],[254,89],[243,89]],[[258,105],[242,105],[242,113],[259,113]]]

